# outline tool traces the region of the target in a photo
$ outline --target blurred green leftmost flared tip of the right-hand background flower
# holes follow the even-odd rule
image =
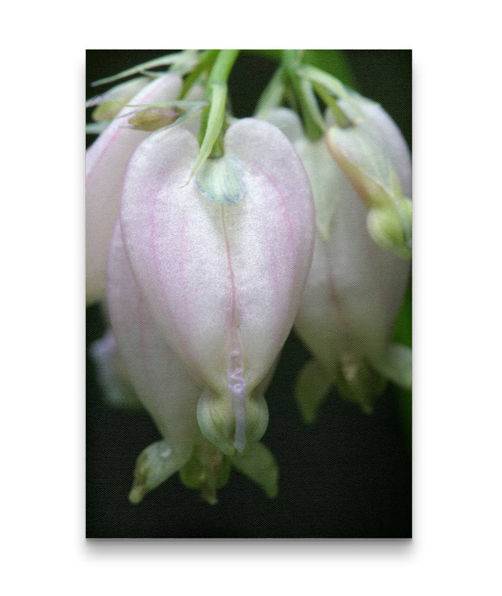
[[[311,359],[303,366],[296,378],[295,399],[305,423],[315,421],[332,386],[332,375],[317,360]]]

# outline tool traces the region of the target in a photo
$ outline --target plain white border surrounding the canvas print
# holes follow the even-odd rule
[[[490,593],[500,530],[499,19],[483,1],[464,12],[450,2],[225,5],[7,9],[4,581],[14,593],[56,595]],[[84,541],[84,50],[165,46],[413,48],[412,542]],[[47,95],[47,81],[60,93]]]

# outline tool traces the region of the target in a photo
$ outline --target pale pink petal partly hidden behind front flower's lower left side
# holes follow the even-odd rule
[[[129,378],[181,467],[198,434],[195,411],[200,389],[159,333],[138,292],[118,224],[110,242],[107,299]]]

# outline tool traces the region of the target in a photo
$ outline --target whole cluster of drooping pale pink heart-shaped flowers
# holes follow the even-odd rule
[[[87,301],[111,327],[93,355],[109,395],[132,386],[162,435],[138,457],[133,503],[176,471],[213,503],[231,466],[277,494],[259,441],[293,326],[312,354],[305,421],[333,385],[369,412],[387,379],[411,384],[409,350],[389,342],[411,256],[393,120],[337,81],[312,140],[281,101],[218,120],[217,86],[192,78],[187,93],[176,72],[136,77],[91,102],[106,126],[86,155]]]

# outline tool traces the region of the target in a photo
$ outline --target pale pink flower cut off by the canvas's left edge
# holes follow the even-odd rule
[[[181,78],[165,75],[142,88],[131,103],[174,100]],[[149,132],[126,128],[130,108],[124,108],[86,152],[86,297],[89,304],[103,297],[108,243],[116,218],[123,176],[135,148]]]

